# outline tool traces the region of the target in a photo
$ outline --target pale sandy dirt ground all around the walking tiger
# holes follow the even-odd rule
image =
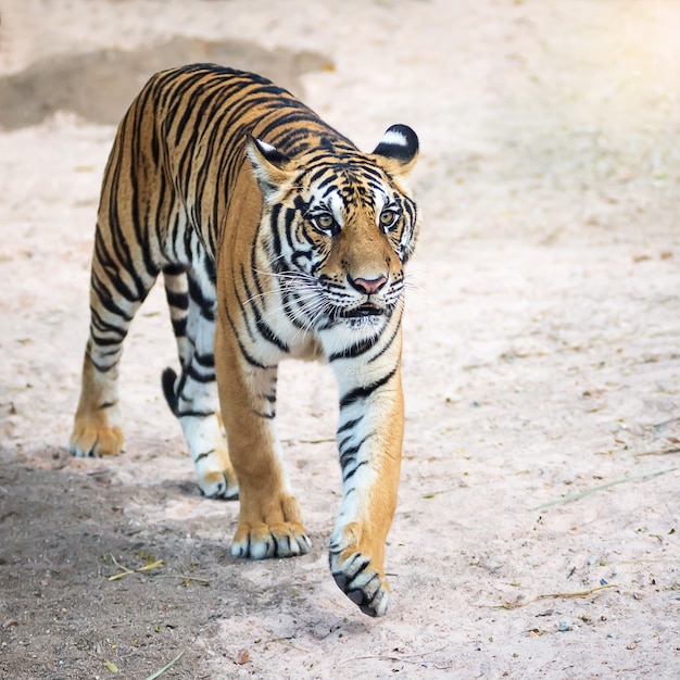
[[[0,677],[144,679],[179,654],[163,678],[680,677],[675,0],[0,14]],[[301,558],[230,556],[237,504],[199,495],[161,395],[160,291],[124,357],[127,452],[65,450],[113,123],[153,71],[206,60],[278,79],[365,150],[392,123],[420,137],[382,619],[327,567],[327,368],[286,364],[280,386]]]

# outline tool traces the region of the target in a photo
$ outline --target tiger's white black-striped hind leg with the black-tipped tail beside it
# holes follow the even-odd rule
[[[179,376],[172,368],[163,373],[165,399],[181,425],[201,492],[211,499],[237,499],[215,382],[212,262],[201,252],[191,270],[169,265],[163,278],[181,365]]]

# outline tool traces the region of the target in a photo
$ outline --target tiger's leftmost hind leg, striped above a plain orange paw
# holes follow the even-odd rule
[[[124,438],[118,408],[118,363],[123,341],[156,278],[146,267],[112,256],[115,245],[98,227],[90,279],[90,335],[83,362],[80,399],[68,450],[78,457],[117,455]]]

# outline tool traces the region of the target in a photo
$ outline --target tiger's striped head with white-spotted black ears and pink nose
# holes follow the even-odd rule
[[[393,125],[370,154],[343,138],[290,156],[250,137],[247,151],[286,314],[310,329],[379,332],[401,311],[418,232],[404,185],[416,134]]]

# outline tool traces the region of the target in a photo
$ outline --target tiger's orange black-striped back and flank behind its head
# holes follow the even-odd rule
[[[121,123],[104,177],[101,210],[108,203],[109,215],[100,210],[100,221],[111,229],[116,223],[134,225],[139,244],[153,243],[154,228],[162,241],[167,227],[186,221],[214,257],[229,199],[245,167],[249,134],[290,156],[320,143],[356,152],[267,78],[214,64],[173,68],[149,80]],[[116,172],[123,167],[129,177]],[[129,186],[138,188],[135,200],[121,200]],[[121,215],[126,206],[130,213]],[[158,214],[144,213],[149,206]],[[163,255],[173,254],[155,259],[156,267]]]

